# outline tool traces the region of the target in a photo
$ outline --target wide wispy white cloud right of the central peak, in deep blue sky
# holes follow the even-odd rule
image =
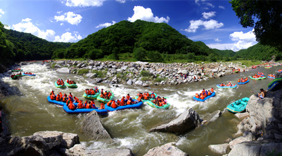
[[[203,25],[206,29],[206,30],[209,30],[209,29],[217,29],[217,28],[220,28],[222,27],[224,24],[223,23],[218,23],[216,20],[209,20],[209,21],[203,21],[201,19],[199,20],[191,20],[190,21],[190,26],[189,28],[187,29],[181,29],[183,31],[186,31],[188,33],[195,33],[196,30],[199,28],[199,26]]]

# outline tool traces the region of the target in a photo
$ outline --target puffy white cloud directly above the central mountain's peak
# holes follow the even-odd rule
[[[145,9],[142,6],[134,6],[133,11],[134,11],[133,16],[127,18],[127,20],[130,22],[134,22],[137,19],[141,19],[144,21],[155,22],[155,23],[161,23],[161,22],[168,23],[170,20],[168,16],[166,18],[164,17],[159,18],[158,16],[154,17],[154,14],[152,13],[152,10],[150,8]]]

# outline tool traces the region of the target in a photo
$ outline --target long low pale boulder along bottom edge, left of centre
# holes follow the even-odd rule
[[[76,144],[70,149],[60,149],[60,153],[66,156],[132,156],[130,149],[108,148],[99,150],[87,150],[82,144]]]

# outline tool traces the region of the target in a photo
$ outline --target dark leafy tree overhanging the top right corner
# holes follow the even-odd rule
[[[254,26],[258,42],[282,51],[282,1],[232,0],[230,3],[244,28]]]

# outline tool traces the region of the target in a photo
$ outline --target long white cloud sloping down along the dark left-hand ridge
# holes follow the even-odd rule
[[[54,40],[55,31],[51,29],[47,29],[46,31],[40,30],[32,22],[30,22],[30,20],[31,20],[30,18],[22,19],[22,22],[18,24],[13,24],[11,29],[19,32],[30,33],[33,34],[34,36],[37,36],[42,39],[46,39],[48,41]]]

